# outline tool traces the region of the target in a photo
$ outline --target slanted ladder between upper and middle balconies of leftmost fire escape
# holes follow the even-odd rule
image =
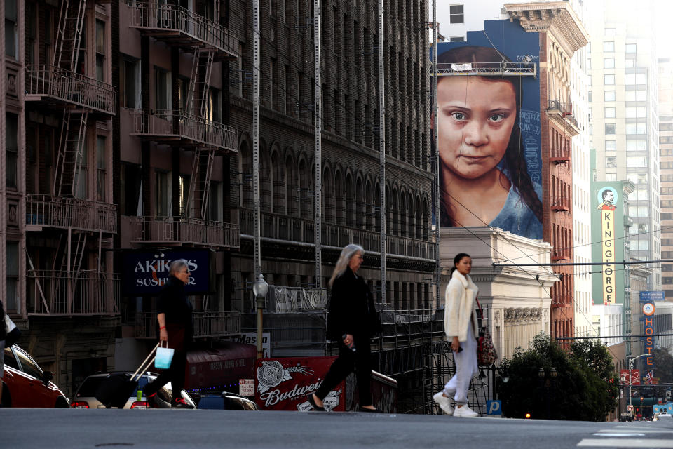
[[[54,176],[54,193],[57,196],[74,197],[77,194],[88,114],[87,109],[66,109],[63,112]]]

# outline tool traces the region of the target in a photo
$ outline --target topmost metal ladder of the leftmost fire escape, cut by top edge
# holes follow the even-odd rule
[[[55,67],[75,72],[85,10],[86,0],[62,0],[52,60]]]

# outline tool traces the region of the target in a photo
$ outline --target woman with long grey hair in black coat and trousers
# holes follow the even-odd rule
[[[357,274],[364,254],[362,246],[346,246],[341,250],[332,279],[329,279],[332,298],[327,315],[327,338],[339,342],[339,358],[332,363],[318,390],[308,396],[308,402],[315,410],[325,410],[322,400],[355,368],[360,411],[379,411],[372,405],[369,387],[372,377],[369,339],[381,331],[381,321],[367,283]]]

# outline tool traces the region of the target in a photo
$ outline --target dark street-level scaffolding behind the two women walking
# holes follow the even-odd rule
[[[248,309],[254,307],[249,293]],[[264,311],[272,357],[336,356],[337,342],[327,340],[326,288],[269,286]],[[372,369],[397,381],[398,413],[441,414],[433,394],[456,373],[451,347],[444,335],[444,309],[397,309],[379,306],[383,326],[372,338]],[[484,311],[484,316],[490,316]],[[241,331],[257,330],[256,315],[243,314]],[[494,397],[494,366],[480,367],[468,391],[470,408],[481,415]]]

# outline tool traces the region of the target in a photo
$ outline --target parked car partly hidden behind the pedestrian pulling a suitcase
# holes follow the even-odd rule
[[[118,373],[113,373],[118,374]],[[123,374],[123,373],[122,373]],[[131,373],[127,373],[130,375]],[[99,373],[93,374],[88,377],[79,385],[75,395],[72,398],[72,408],[106,408],[100,401],[95,398],[96,391],[100,387],[101,382],[110,375],[110,373]],[[144,386],[156,379],[156,373],[144,373],[140,376],[138,380],[138,386],[133,390],[133,394],[128,398],[123,408],[170,408],[170,399],[172,397],[172,389],[170,382],[165,384],[162,389],[157,391],[155,400],[150,404],[147,401],[147,398],[142,393]],[[138,399],[138,390],[140,389],[140,400]],[[189,393],[185,390],[182,390],[182,398],[193,408],[196,408],[196,403],[194,403]]]

